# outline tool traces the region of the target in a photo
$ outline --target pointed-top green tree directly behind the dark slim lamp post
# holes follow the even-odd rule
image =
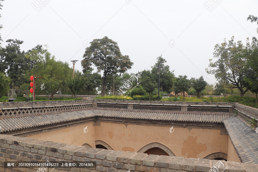
[[[151,68],[151,79],[158,83],[158,65],[161,68],[159,71],[159,83],[161,91],[172,91],[173,80],[174,80],[174,71],[170,71],[169,65],[166,65],[167,60],[162,58],[162,55],[157,58],[157,62]]]

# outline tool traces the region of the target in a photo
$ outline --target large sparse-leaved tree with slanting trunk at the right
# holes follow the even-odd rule
[[[232,36],[228,42],[225,39],[222,44],[216,44],[214,50],[216,61],[209,59],[210,64],[206,72],[215,75],[219,83],[238,88],[243,97],[250,88],[244,81],[246,54],[243,44],[241,41],[234,42],[234,36]]]

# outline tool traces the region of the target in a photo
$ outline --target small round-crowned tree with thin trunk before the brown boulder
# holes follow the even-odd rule
[[[185,91],[188,91],[191,87],[191,82],[187,79],[187,76],[179,75],[179,77],[175,81],[174,92],[177,95],[178,93],[183,93],[184,101],[185,101]]]

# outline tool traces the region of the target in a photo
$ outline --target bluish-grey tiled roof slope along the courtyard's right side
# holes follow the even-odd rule
[[[258,164],[258,134],[236,116],[225,120],[224,125],[241,161]]]

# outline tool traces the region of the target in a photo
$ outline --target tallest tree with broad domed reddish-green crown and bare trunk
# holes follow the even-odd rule
[[[123,56],[118,43],[107,36],[102,39],[94,39],[90,44],[85,49],[81,65],[84,72],[89,70],[92,65],[97,68],[97,72],[103,71],[102,96],[104,96],[107,75],[124,73],[131,69],[133,62],[131,62],[129,56]]]

